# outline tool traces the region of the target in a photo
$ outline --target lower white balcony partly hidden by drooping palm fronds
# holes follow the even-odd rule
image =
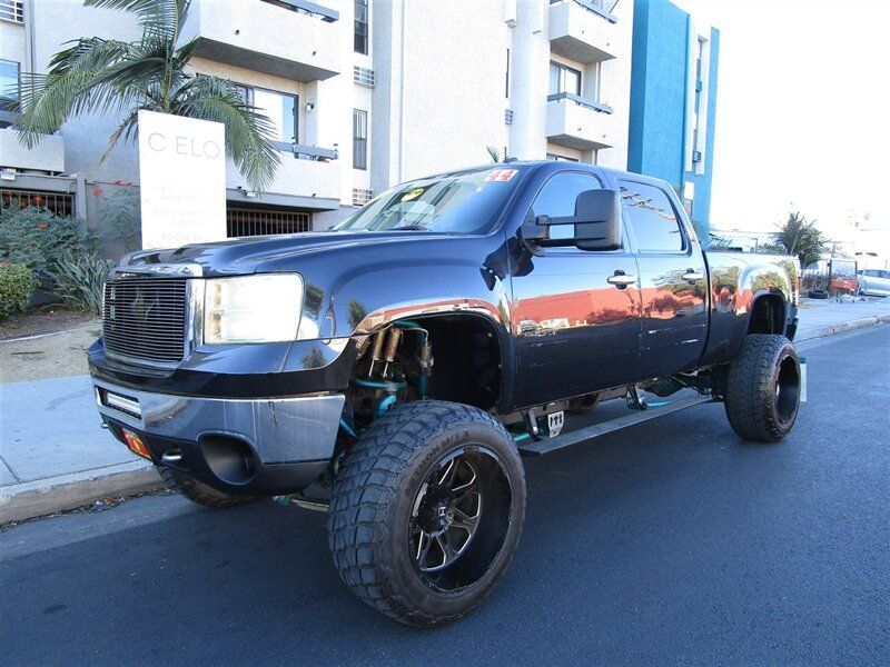
[[[336,150],[291,143],[276,143],[276,148],[280,151],[281,163],[275,180],[258,201],[285,195],[304,199],[299,205],[307,208],[332,209],[339,205],[342,183]],[[231,159],[226,170],[226,187],[248,192]],[[246,196],[251,198],[250,193]]]

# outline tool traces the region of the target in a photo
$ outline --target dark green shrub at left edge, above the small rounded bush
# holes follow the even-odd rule
[[[63,251],[81,253],[92,248],[91,238],[73,218],[33,206],[0,210],[0,260],[42,275],[55,268]]]

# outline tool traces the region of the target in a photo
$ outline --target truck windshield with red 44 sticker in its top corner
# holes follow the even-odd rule
[[[488,167],[403,183],[376,197],[334,229],[487,233],[516,188],[522,169]]]

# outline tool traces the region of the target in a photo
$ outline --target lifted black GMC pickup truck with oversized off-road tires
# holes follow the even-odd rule
[[[742,438],[785,436],[798,291],[790,257],[702,251],[664,181],[502,163],[329,232],[130,255],[89,364],[102,419],[170,487],[327,510],[346,585],[424,626],[504,574],[521,454],[703,401]],[[612,398],[626,412],[597,420]]]

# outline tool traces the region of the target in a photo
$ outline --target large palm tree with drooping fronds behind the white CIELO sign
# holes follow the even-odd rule
[[[142,37],[125,42],[81,38],[59,51],[46,74],[29,74],[22,84],[22,115],[14,123],[19,140],[32,148],[71,117],[122,115],[111,148],[137,132],[139,110],[221,122],[226,150],[255,190],[271,183],[280,160],[269,143],[271,121],[245,100],[231,81],[186,72],[197,39],[177,46],[190,0],[85,0],[136,14]]]

